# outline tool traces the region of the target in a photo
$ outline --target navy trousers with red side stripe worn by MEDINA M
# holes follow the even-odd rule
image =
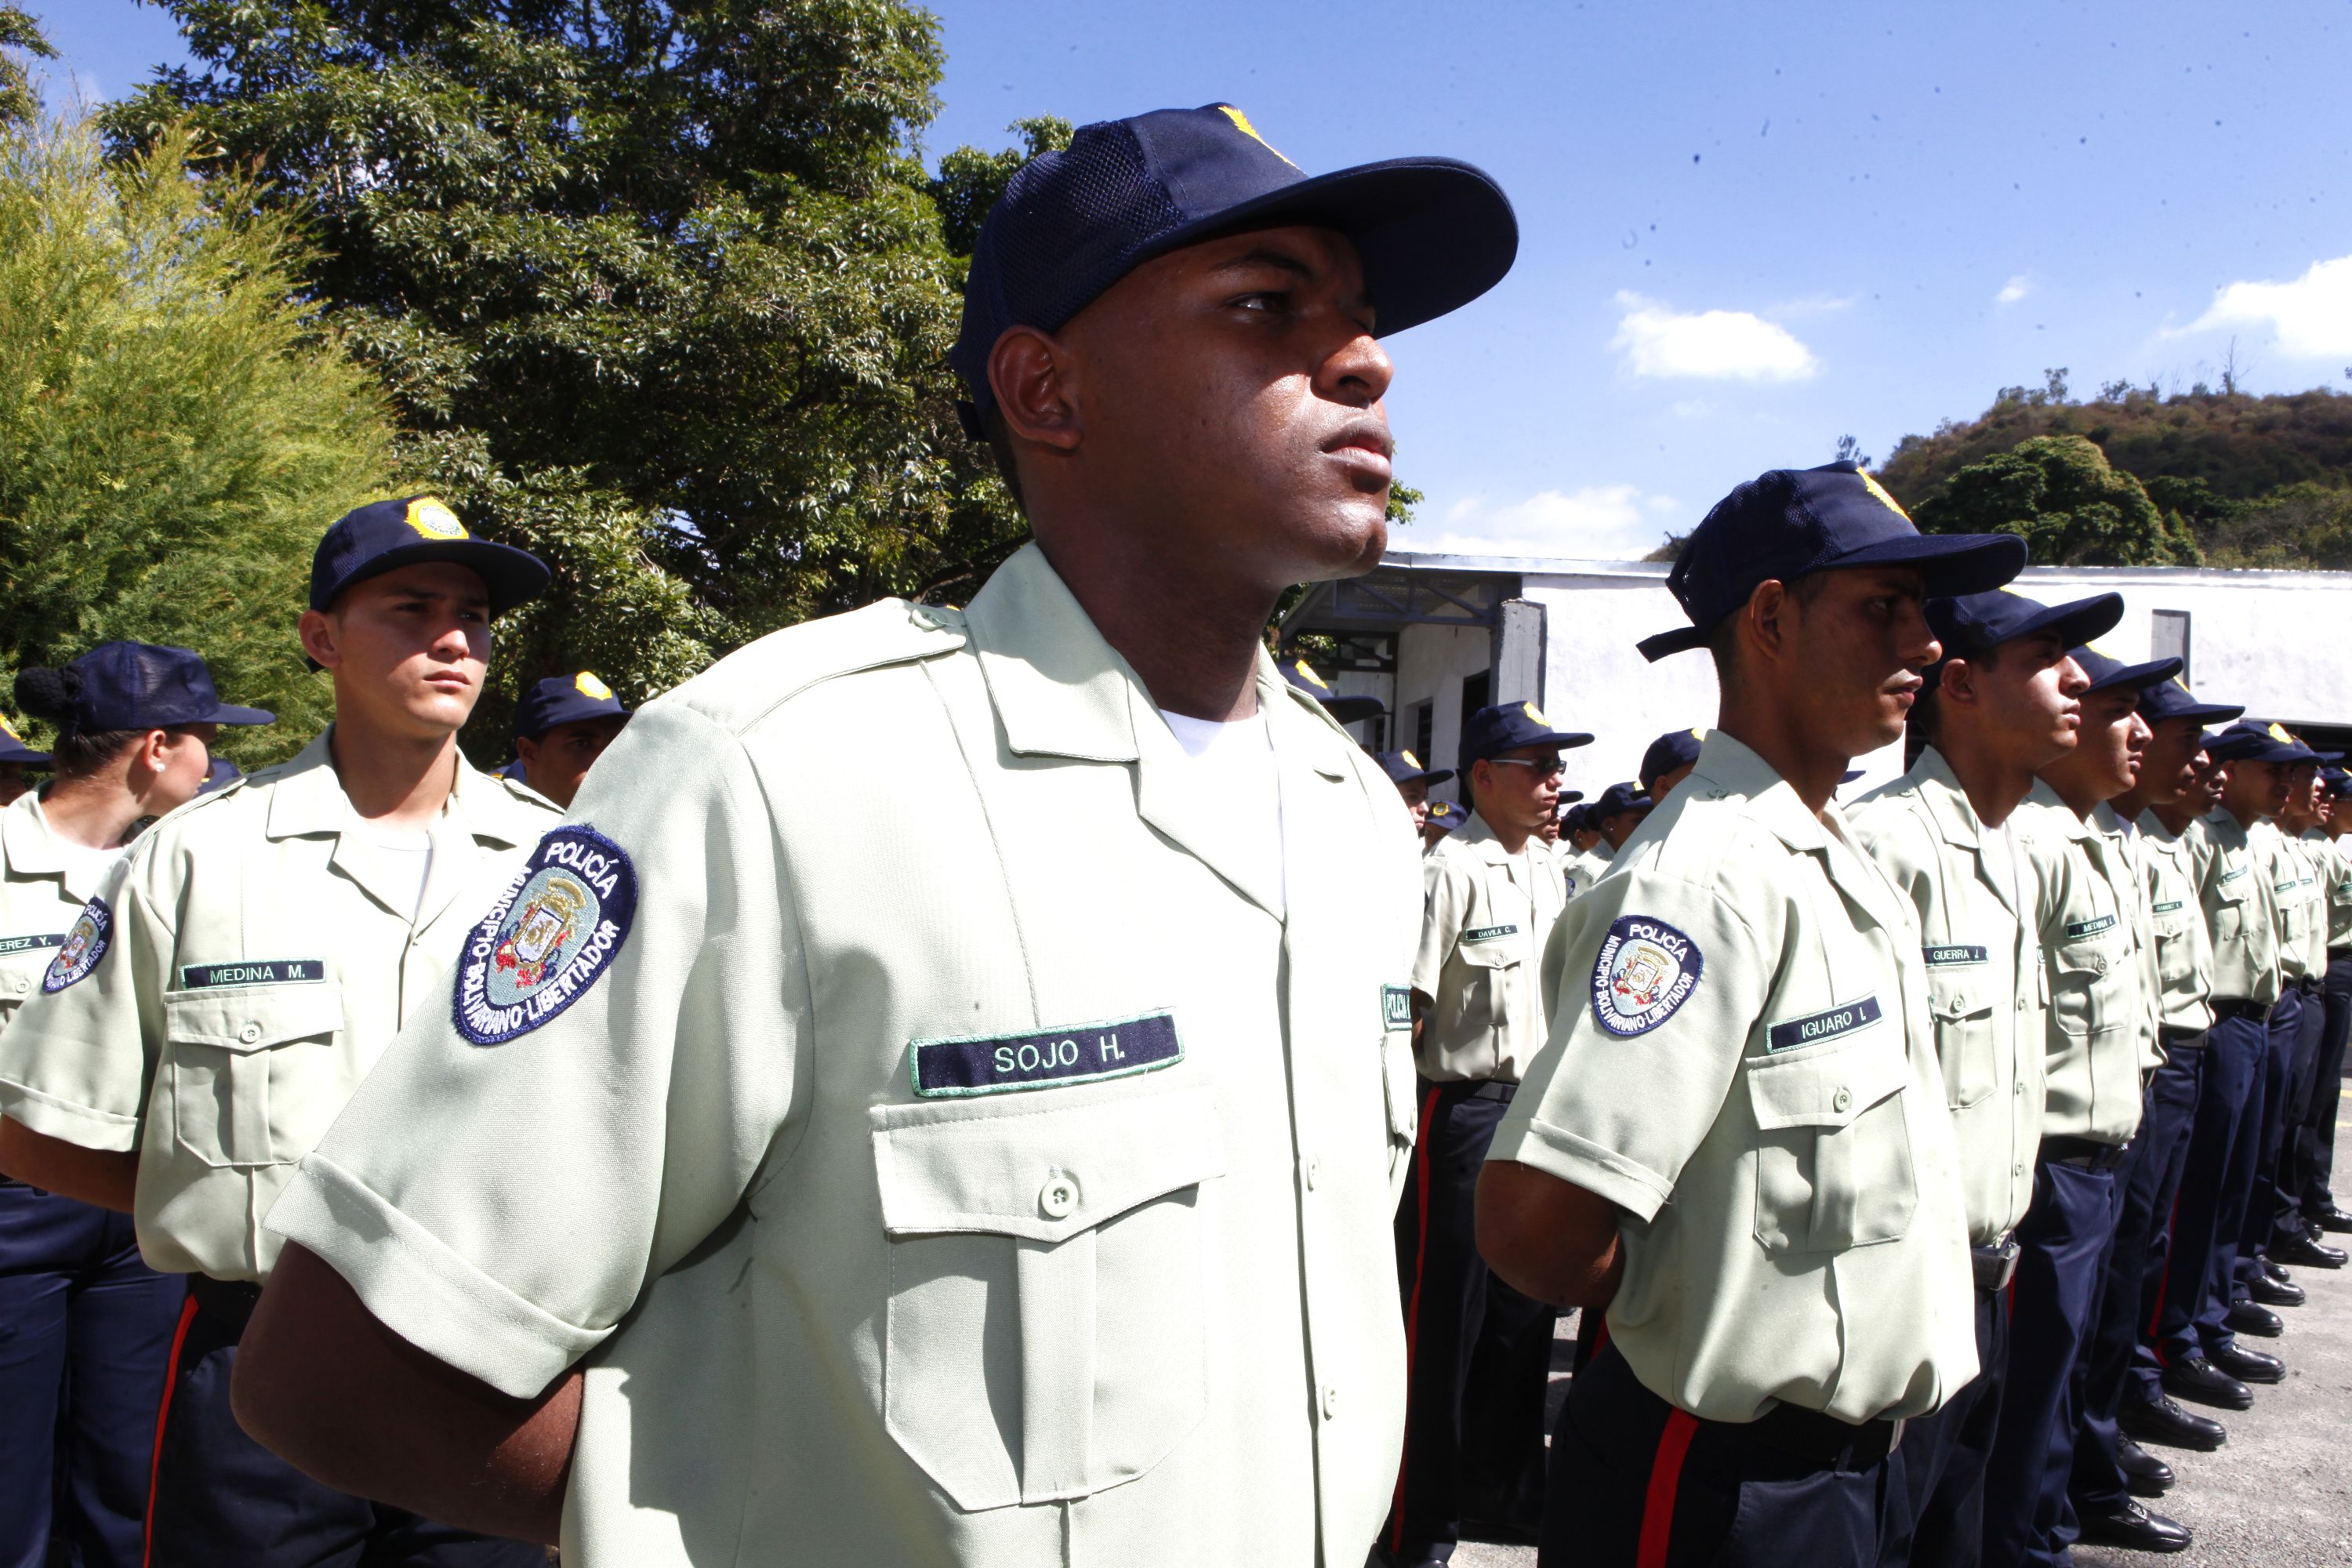
[[[202,1286],[200,1286],[202,1288]],[[546,1547],[320,1486],[228,1410],[242,1314],[181,1307],[155,1443],[151,1568],[546,1568]]]

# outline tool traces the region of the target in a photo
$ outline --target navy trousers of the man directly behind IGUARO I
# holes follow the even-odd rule
[[[1976,1568],[1985,1542],[1985,1465],[2009,1382],[2009,1293],[1976,1293],[1978,1373],[1933,1415],[1905,1425],[1893,1455],[1882,1568]]]

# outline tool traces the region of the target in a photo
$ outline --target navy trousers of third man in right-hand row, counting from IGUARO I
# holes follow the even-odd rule
[[[2058,1159],[2034,1164],[2034,1199],[2018,1225],[2009,1321],[2009,1387],[1985,1462],[1985,1563],[2065,1561],[2058,1526],[2074,1472],[2074,1359],[2114,1241],[2114,1171]]]

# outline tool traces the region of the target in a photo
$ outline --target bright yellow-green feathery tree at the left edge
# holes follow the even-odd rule
[[[325,522],[390,484],[374,378],[296,296],[308,256],[186,132],[108,165],[0,129],[0,679],[108,637],[198,649],[245,764],[327,717],[294,618]]]

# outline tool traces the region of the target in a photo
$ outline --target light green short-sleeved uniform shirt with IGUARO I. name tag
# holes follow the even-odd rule
[[[1625,1213],[1609,1335],[1708,1420],[1922,1415],[1976,1375],[1919,926],[1832,804],[1715,731],[1545,954],[1496,1128]]]

